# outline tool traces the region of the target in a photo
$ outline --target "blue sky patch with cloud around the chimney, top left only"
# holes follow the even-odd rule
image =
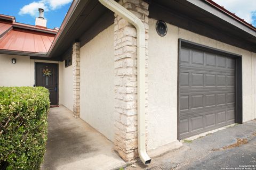
[[[0,1],[0,13],[15,16],[16,22],[35,25],[38,8],[44,8],[47,28],[60,27],[72,0],[8,0]]]

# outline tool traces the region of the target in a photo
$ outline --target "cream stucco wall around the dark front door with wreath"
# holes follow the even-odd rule
[[[12,58],[16,64],[12,64]],[[64,62],[30,60],[29,56],[0,54],[0,86],[31,86],[35,84],[35,62],[59,64],[59,104],[72,110],[73,84],[72,66],[65,68]]]

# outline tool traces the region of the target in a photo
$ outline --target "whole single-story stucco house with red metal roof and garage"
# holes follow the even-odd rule
[[[256,118],[256,28],[211,0],[74,0],[59,30],[37,20],[0,15],[0,86],[48,88],[126,161]]]

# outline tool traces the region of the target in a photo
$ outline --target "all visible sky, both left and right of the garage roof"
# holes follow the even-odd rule
[[[213,0],[256,27],[256,0]],[[38,8],[44,8],[47,28],[60,27],[72,0],[2,0],[0,13],[15,16],[17,22],[35,25]]]

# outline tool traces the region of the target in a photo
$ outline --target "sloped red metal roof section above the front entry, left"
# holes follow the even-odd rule
[[[0,50],[46,54],[57,33],[57,30],[1,19]]]

